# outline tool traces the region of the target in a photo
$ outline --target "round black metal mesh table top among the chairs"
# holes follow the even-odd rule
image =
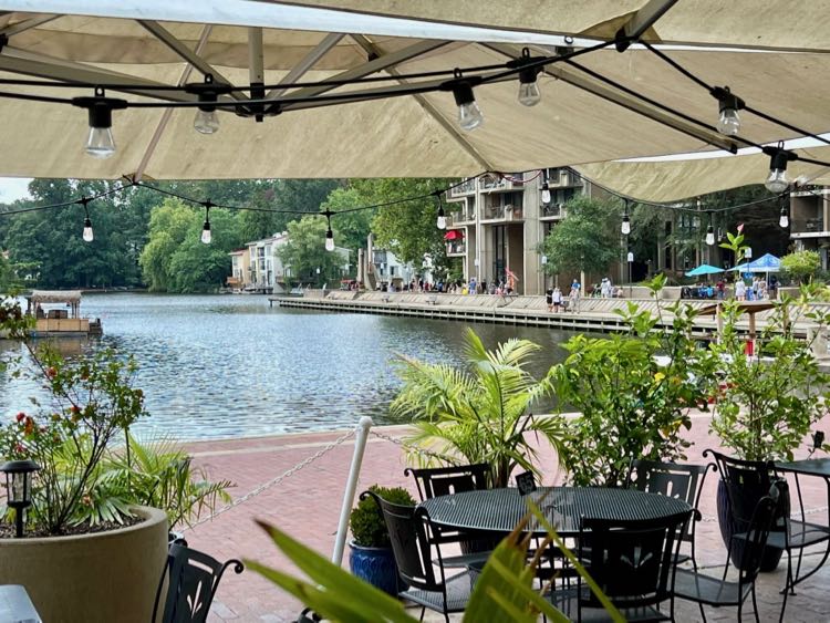
[[[636,489],[602,487],[540,487],[521,497],[516,488],[483,489],[438,496],[421,503],[433,523],[447,528],[510,532],[528,512],[532,499],[561,536],[579,533],[580,520],[649,520],[688,511],[692,507],[678,498],[646,494]],[[527,528],[544,532],[536,521]]]

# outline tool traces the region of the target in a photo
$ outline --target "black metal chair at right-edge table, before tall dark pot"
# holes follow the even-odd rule
[[[830,551],[830,528],[803,521],[803,508],[801,509],[801,521],[791,519],[787,481],[776,474],[772,461],[740,460],[709,449],[704,450],[703,456],[709,454],[715,458],[720,478],[726,487],[736,532],[746,531],[758,500],[769,492],[772,482],[779,482],[779,488],[782,489],[784,494],[778,505],[778,515],[772,522],[767,544],[787,552],[787,582],[784,590],[785,593],[789,591],[795,594],[793,586],[796,583],[816,573],[827,559],[826,552],[819,564],[808,573],[800,575],[805,548],[828,541],[827,551]],[[733,563],[738,564],[735,559],[739,560],[740,558],[739,547],[729,543],[729,549]],[[798,563],[795,573],[792,569],[793,550],[798,550]],[[784,617],[784,608],[786,606],[787,600],[785,599],[781,617]]]

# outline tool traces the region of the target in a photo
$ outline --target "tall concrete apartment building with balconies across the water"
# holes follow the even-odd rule
[[[542,200],[546,181],[550,198]],[[447,256],[463,258],[466,280],[507,282],[509,271],[519,293],[541,294],[539,245],[566,217],[569,200],[596,191],[569,168],[469,178],[447,193]]]

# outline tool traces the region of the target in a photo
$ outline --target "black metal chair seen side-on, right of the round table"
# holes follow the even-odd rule
[[[753,608],[755,610],[755,621],[758,622],[758,602],[755,595],[755,580],[761,568],[764,560],[764,550],[769,538],[770,528],[778,513],[780,499],[778,489],[770,490],[771,496],[762,497],[755,507],[751,518],[747,526],[747,531],[734,537],[740,541],[740,564],[738,565],[737,582],[726,581],[725,578],[713,578],[697,572],[697,570],[678,569],[674,577],[674,594],[677,599],[697,602],[701,608],[701,616],[706,623],[706,613],[703,610],[705,605],[715,608],[734,608],[738,609],[738,621],[741,621],[744,602],[747,595],[753,595]],[[728,568],[728,560],[727,560]],[[787,602],[787,592],[784,595],[785,605]],[[784,611],[781,611],[784,613]]]

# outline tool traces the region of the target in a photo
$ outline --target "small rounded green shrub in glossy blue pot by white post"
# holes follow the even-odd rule
[[[369,490],[392,503],[415,505],[409,491],[402,487],[386,488],[373,485]],[[352,509],[349,526],[352,529],[352,540],[349,542],[349,568],[352,573],[373,586],[396,595],[400,581],[390,544],[390,533],[383,512],[372,496],[365,496]]]

